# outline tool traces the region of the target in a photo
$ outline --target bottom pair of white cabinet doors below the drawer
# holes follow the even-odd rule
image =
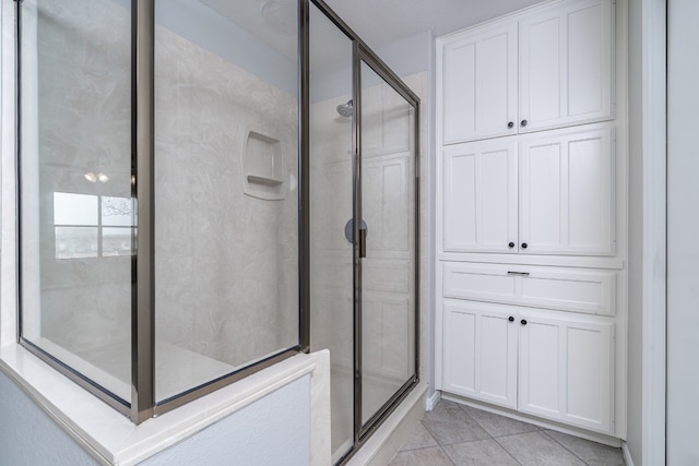
[[[438,389],[613,432],[613,322],[452,300],[442,312]]]

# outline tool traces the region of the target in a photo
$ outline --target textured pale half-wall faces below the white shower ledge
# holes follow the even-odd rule
[[[0,372],[0,464],[93,466],[90,456]],[[310,464],[310,375],[249,405],[142,465]]]

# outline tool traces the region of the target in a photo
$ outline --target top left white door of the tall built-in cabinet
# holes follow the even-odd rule
[[[450,39],[439,59],[442,144],[517,134],[516,22]]]

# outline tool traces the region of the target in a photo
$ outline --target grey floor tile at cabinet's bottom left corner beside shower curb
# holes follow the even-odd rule
[[[440,402],[435,409],[425,414],[423,425],[440,445],[490,438],[455,403],[447,404]]]

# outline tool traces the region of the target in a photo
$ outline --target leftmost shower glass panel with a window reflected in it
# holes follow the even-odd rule
[[[128,404],[131,247],[103,254],[99,199],[131,203],[131,11],[17,4],[22,336]]]

